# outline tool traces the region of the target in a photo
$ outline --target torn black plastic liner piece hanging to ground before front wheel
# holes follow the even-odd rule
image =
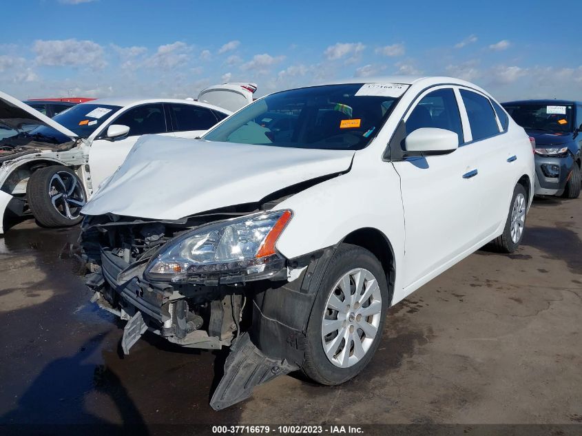
[[[249,334],[243,333],[231,346],[225,375],[216,386],[210,406],[215,411],[232,406],[250,397],[255,386],[298,369],[287,360],[267,357],[251,342]]]

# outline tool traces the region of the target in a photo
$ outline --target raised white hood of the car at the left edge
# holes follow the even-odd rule
[[[4,92],[0,91],[0,122],[4,125],[12,127],[14,130],[19,130],[25,124],[41,124],[52,127],[61,132],[63,135],[71,138],[74,141],[77,137],[74,132],[71,132],[67,127],[60,125],[52,118],[41,114],[41,112],[33,109],[26,103],[23,103],[18,98],[14,98]]]

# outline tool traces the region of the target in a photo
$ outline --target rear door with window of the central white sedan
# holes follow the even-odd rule
[[[516,144],[508,141],[506,115],[497,116],[488,96],[461,87],[461,99],[469,121],[472,141],[466,145],[479,154],[479,218],[475,232],[479,239],[495,236],[505,222],[515,187],[515,167],[519,154]]]

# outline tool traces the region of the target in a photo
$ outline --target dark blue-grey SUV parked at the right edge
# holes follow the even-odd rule
[[[578,198],[582,187],[582,103],[523,100],[502,105],[535,140],[535,194]]]

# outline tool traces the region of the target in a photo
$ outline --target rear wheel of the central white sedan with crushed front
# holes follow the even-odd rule
[[[513,189],[513,197],[509,206],[506,226],[503,233],[491,241],[490,247],[499,253],[513,253],[519,247],[526,227],[526,212],[528,211],[528,194],[522,185]]]

